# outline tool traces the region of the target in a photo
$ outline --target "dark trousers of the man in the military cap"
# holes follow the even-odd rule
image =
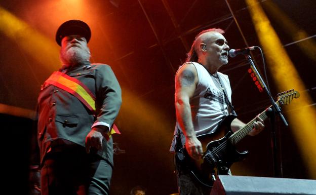
[[[42,195],[108,195],[111,176],[111,165],[81,146],[53,151],[43,162],[41,191]]]

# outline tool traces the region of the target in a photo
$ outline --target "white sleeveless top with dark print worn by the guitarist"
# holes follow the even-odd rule
[[[231,103],[229,79],[221,72],[217,72],[216,78],[202,64],[190,63],[195,66],[199,79],[194,95],[190,99],[194,131],[196,135],[213,133],[224,116],[228,115],[228,103],[225,100],[223,88],[226,89]]]

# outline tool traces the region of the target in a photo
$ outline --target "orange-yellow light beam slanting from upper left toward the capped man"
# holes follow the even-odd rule
[[[60,67],[58,45],[0,7],[0,31],[48,70]]]

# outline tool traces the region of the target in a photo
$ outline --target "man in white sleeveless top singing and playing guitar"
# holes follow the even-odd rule
[[[211,187],[201,184],[190,172],[194,169],[191,160],[200,160],[204,152],[197,136],[216,132],[225,116],[235,113],[228,76],[218,71],[228,63],[229,46],[223,33],[218,28],[200,32],[175,76],[177,124],[170,151],[175,153],[180,195],[210,194]],[[234,119],[230,126],[237,131],[245,123]],[[249,135],[263,128],[263,120],[257,116]]]

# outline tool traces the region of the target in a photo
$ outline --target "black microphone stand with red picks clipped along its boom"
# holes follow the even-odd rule
[[[282,112],[281,112],[281,109],[280,107],[277,105],[277,103],[274,102],[272,96],[271,96],[271,93],[270,91],[268,90],[267,86],[265,85],[259,71],[257,70],[256,66],[255,66],[255,63],[254,61],[252,60],[251,56],[248,54],[246,56],[248,62],[250,63],[253,71],[255,72],[256,76],[257,76],[257,79],[259,80],[259,82],[263,85],[263,89],[266,91],[270,101],[271,101],[271,104],[272,104],[272,110],[267,110],[268,114],[270,116],[270,121],[271,121],[271,149],[272,149],[272,161],[273,161],[273,173],[274,173],[274,177],[282,177],[282,175],[280,173],[278,173],[278,170],[276,169],[276,165],[277,165],[277,138],[275,136],[275,113],[278,113],[281,120],[283,121],[284,125],[285,126],[289,126],[287,121],[285,120]],[[281,158],[280,158],[281,160]],[[281,168],[282,169],[282,168]],[[282,171],[282,170],[281,170]]]

